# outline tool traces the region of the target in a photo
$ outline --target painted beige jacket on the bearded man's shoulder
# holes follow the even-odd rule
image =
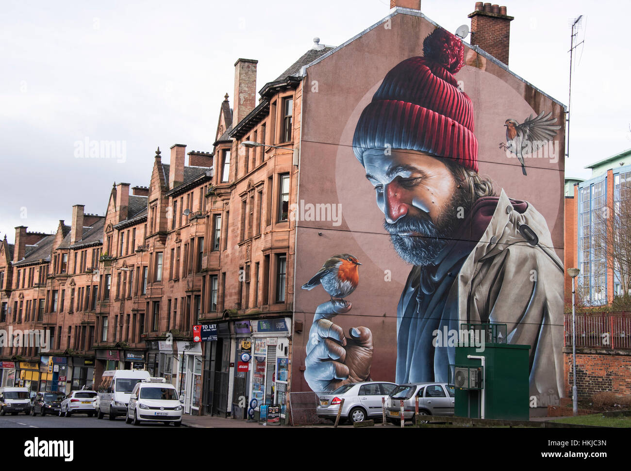
[[[527,228],[536,235],[538,241]],[[529,240],[529,241],[527,241]],[[532,205],[514,211],[500,194],[487,230],[457,279],[460,322],[507,324],[507,342],[528,344],[530,395],[563,397],[563,264]]]

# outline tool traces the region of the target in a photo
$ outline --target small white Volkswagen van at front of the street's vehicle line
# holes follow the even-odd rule
[[[129,397],[127,424],[139,425],[141,421],[164,422],[165,425],[182,425],[182,402],[174,385],[164,378],[141,380]]]

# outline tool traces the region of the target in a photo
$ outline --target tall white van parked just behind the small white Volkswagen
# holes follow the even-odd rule
[[[127,415],[129,396],[137,383],[150,378],[149,371],[137,369],[114,369],[105,371],[100,385],[98,385],[97,417],[102,419],[105,414],[110,421],[117,416]]]

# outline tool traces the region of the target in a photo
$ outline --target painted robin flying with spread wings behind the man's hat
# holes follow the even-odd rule
[[[559,125],[553,125],[557,119],[550,119],[552,112],[544,113],[542,111],[535,118],[530,115],[522,124],[514,119],[507,119],[504,124],[506,143],[500,142],[500,149],[506,149],[511,154],[515,154],[521,163],[521,171],[524,175],[526,175],[524,154],[534,154],[543,144],[551,141],[557,135],[557,129],[561,128]]]

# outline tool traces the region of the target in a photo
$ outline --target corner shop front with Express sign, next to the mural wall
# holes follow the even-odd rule
[[[281,419],[286,418],[290,329],[291,319],[288,317],[252,322],[249,397],[256,399],[256,417],[259,416],[261,405],[277,404],[280,406]]]

